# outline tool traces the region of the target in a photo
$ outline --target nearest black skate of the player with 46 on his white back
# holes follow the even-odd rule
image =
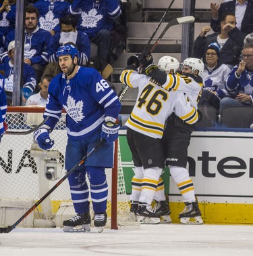
[[[139,202],[138,209],[136,211],[137,219],[141,224],[158,224],[160,223],[160,217],[157,217],[154,209],[151,205],[147,205],[145,202]]]

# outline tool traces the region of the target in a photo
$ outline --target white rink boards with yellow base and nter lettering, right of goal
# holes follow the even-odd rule
[[[253,223],[253,133],[240,131],[194,131],[188,150],[188,169],[202,217],[206,223]],[[132,178],[131,154],[120,131],[121,158],[126,184]],[[178,221],[184,208],[169,173],[163,174],[169,193],[171,217]],[[127,186],[127,192],[131,191]]]

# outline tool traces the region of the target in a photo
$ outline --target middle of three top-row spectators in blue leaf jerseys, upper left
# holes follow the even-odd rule
[[[62,0],[38,0],[33,5],[38,9],[40,16],[38,26],[52,35],[60,33],[59,19],[69,13],[70,3]]]

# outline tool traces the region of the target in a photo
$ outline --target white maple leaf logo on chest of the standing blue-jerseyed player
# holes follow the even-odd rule
[[[82,113],[82,108],[84,106],[84,102],[80,100],[76,103],[76,100],[72,98],[70,95],[67,96],[67,106],[63,104],[63,108],[65,108],[67,114],[76,122],[82,121],[84,119],[84,115]]]

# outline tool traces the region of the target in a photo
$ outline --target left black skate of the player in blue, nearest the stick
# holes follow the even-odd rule
[[[90,213],[78,213],[76,216],[63,221],[64,232],[89,232]]]

